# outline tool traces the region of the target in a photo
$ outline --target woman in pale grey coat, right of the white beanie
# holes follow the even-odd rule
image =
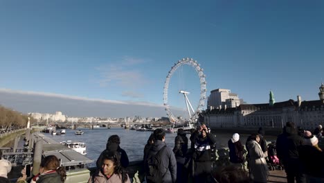
[[[263,153],[259,144],[260,136],[258,134],[251,134],[251,141],[247,142],[249,147],[249,169],[250,178],[253,182],[267,182],[269,170],[265,160],[266,155]]]

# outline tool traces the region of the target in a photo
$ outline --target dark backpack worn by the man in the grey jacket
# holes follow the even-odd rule
[[[155,155],[149,155],[146,160],[146,181],[147,182],[163,182],[164,175],[168,172],[167,170],[160,170],[161,167],[161,154],[166,146],[163,146]],[[165,171],[165,173],[163,173]]]

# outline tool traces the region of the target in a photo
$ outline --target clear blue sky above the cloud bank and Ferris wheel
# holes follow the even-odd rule
[[[161,105],[181,58],[201,64],[207,95],[231,89],[247,103],[270,90],[318,100],[324,82],[320,0],[1,1],[0,25],[0,88],[12,91]],[[192,68],[170,83],[170,105],[183,108],[180,88],[198,103]]]

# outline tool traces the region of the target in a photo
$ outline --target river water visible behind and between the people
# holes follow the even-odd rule
[[[129,161],[141,160],[143,159],[143,150],[152,132],[140,132],[136,130],[125,130],[124,128],[94,128],[90,130],[89,128],[78,128],[77,130],[82,130],[84,134],[75,135],[76,130],[66,129],[66,134],[62,135],[52,135],[44,133],[47,137],[51,137],[57,142],[60,141],[82,141],[87,143],[87,157],[93,159],[96,162],[102,150],[105,150],[107,139],[112,134],[117,134],[120,137],[120,148],[123,148],[128,157]],[[59,130],[57,130],[59,131]],[[227,147],[227,142],[231,139],[233,134],[215,134],[216,135],[216,146],[217,148]],[[167,146],[174,147],[174,138],[177,133],[166,133],[165,143]],[[190,134],[187,134],[189,139]],[[245,144],[248,135],[240,135],[240,140]],[[270,137],[271,138],[271,137]],[[190,146],[190,140],[188,140]],[[89,166],[95,166],[95,164],[90,164]]]

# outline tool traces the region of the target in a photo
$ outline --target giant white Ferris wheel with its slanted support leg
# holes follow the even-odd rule
[[[206,75],[204,74],[204,69],[200,67],[200,64],[197,60],[193,60],[192,58],[183,58],[179,60],[177,63],[174,63],[174,66],[171,67],[171,70],[168,72],[168,76],[164,82],[163,88],[163,105],[165,106],[165,111],[168,114],[168,117],[172,123],[178,121],[178,119],[172,114],[170,109],[170,105],[168,103],[168,89],[170,84],[170,79],[172,78],[172,74],[182,67],[183,65],[189,65],[195,69],[200,81],[200,97],[199,97],[199,104],[197,107],[192,107],[187,94],[190,94],[189,91],[180,90],[179,93],[183,94],[185,101],[186,101],[186,108],[190,117],[190,123],[196,123],[199,117],[199,113],[203,110],[206,101]]]

